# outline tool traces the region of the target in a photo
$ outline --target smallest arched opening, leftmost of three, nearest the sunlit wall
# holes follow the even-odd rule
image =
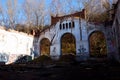
[[[43,38],[40,41],[40,54],[41,55],[50,55],[50,41],[47,38]]]

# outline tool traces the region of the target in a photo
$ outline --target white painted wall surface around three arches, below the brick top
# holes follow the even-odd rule
[[[89,58],[89,36],[91,33],[93,33],[94,31],[101,31],[106,38],[106,44],[107,44],[107,50],[108,50],[108,55],[111,52],[110,51],[110,43],[109,43],[109,33],[112,31],[112,29],[109,27],[107,27],[109,30],[107,30],[107,28],[105,28],[104,24],[95,24],[95,23],[86,23],[85,20],[81,19],[81,24],[79,22],[79,18],[68,18],[65,19],[61,22],[61,24],[66,24],[69,22],[72,22],[72,20],[75,22],[75,27],[74,28],[68,28],[68,29],[60,29],[60,21],[57,22],[56,25],[51,26],[50,29],[45,30],[44,32],[42,32],[40,34],[39,40],[38,40],[38,47],[40,46],[40,41],[43,38],[48,38],[50,41],[53,38],[53,35],[55,35],[55,38],[53,39],[52,45],[50,46],[50,55],[54,58],[55,56],[58,58],[58,56],[60,56],[61,53],[61,37],[65,34],[65,33],[71,33],[76,40],[76,56],[77,59],[82,59],[82,60],[86,60]],[[81,30],[80,30],[81,27]],[[82,35],[82,38],[80,37],[80,34]],[[111,37],[110,37],[111,38]],[[80,50],[82,49],[82,51],[80,52]],[[40,48],[38,51],[38,54],[40,55]]]

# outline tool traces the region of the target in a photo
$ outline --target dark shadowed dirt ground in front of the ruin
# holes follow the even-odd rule
[[[0,66],[0,80],[120,80],[116,62],[63,62]]]

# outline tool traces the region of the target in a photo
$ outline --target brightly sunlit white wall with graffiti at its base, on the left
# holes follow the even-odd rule
[[[20,55],[30,55],[33,36],[14,30],[0,29],[0,62],[14,62]]]

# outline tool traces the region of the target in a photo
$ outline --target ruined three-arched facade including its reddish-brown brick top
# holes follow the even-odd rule
[[[42,54],[41,40],[47,38],[50,41],[50,56],[58,59],[63,54],[61,50],[62,36],[72,34],[75,38],[77,59],[87,60],[90,58],[90,35],[94,32],[101,32],[106,40],[107,58],[109,58],[115,52],[114,46],[111,45],[112,28],[109,26],[106,27],[104,23],[99,22],[87,22],[85,10],[70,15],[51,17],[51,26],[40,32],[39,38],[34,43],[34,50],[40,56]]]

